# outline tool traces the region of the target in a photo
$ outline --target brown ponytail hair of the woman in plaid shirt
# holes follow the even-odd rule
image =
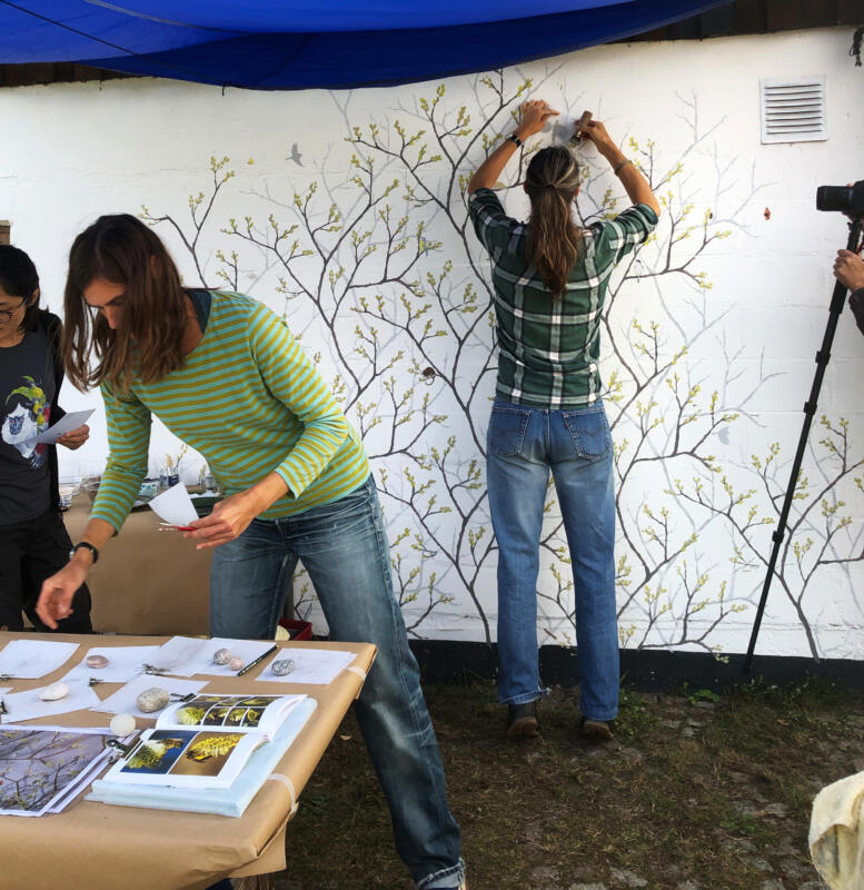
[[[582,247],[573,221],[573,199],[579,188],[579,165],[564,146],[540,149],[528,165],[525,191],[532,202],[528,260],[553,296],[559,297]]]

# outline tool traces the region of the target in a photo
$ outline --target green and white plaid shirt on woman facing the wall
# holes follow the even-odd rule
[[[600,313],[615,265],[643,244],[657,215],[637,204],[583,230],[565,293],[553,297],[526,258],[525,224],[491,189],[468,199],[474,229],[491,258],[498,337],[496,396],[519,405],[573,408],[600,395]]]

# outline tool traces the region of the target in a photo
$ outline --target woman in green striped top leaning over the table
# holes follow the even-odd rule
[[[417,663],[393,593],[380,505],[359,436],[287,326],[239,294],[189,290],[156,234],[100,217],[69,255],[63,360],[99,385],[110,455],[69,564],[37,611],[54,626],[131,510],[158,416],[207,459],[227,496],[185,537],[215,547],[213,636],[272,639],[302,560],[334,640],[378,655],[357,716],[390,805],[397,849],[421,888],[461,884],[459,829]]]

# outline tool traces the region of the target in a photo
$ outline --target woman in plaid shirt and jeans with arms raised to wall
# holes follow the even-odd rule
[[[605,740],[618,712],[619,666],[613,448],[597,370],[600,314],[612,270],[645,241],[661,208],[603,123],[592,121],[582,132],[609,161],[634,206],[577,227],[578,165],[568,148],[554,146],[528,165],[528,222],[508,217],[491,186],[523,141],[557,113],[546,102],[525,102],[518,127],[467,189],[475,231],[491,258],[499,349],[486,449],[498,541],[498,690],[508,705],[508,734],[536,735],[545,693],[536,585],[552,471],[573,565],[582,732]]]

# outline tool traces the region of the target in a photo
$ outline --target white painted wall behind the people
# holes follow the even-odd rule
[[[616,138],[636,140],[637,147],[628,149],[636,160],[647,164],[640,152],[647,150],[648,140],[654,140],[655,181],[675,170],[678,161],[682,164],[661,189],[668,196],[671,209],[656,241],[640,253],[639,265],[629,267],[627,280],[616,285],[605,343],[605,379],[608,384],[617,372],[620,380],[620,388],[610,394],[619,400],[608,404],[616,444],[623,448],[618,556],[623,566],[629,566],[629,576],[622,577],[619,607],[622,637],[628,646],[708,647],[721,652],[743,651],[746,646],[764,577],[762,560],[769,552],[773,530],[771,525],[745,528],[747,510],[749,504],[756,507],[752,522],[776,515],[771,496],[776,497],[785,488],[787,464],[803,417],[801,408],[815,369],[814,354],[827,320],[833,255],[846,240],[843,218],[816,212],[815,189],[822,184],[864,178],[864,120],[860,113],[864,73],[847,57],[850,39],[846,29],[826,29],[702,42],[599,47],[509,69],[500,81],[494,75],[493,82],[509,99],[497,115],[496,95],[478,77],[447,80],[434,107],[434,119],[443,121],[443,129],[454,130],[454,135],[443,137],[443,144],[456,157],[481,128],[489,136],[507,131],[509,109],[520,100],[516,98],[519,85],[529,79],[530,86],[524,88],[522,98],[548,99],[564,111],[566,121],[578,117],[584,108],[594,110]],[[800,75],[826,77],[828,139],[761,145],[759,79]],[[488,373],[483,375],[491,343],[484,315],[488,308],[484,284],[487,267],[473,235],[468,233],[464,238],[458,230],[465,212],[458,189],[447,197],[454,170],[446,156],[419,167],[415,179],[393,156],[346,141],[354,126],[368,137],[368,125],[375,121],[383,144],[396,146],[394,127],[398,120],[408,136],[425,129],[407,157],[416,158],[413,152],[424,142],[429,146],[427,159],[440,154],[421,103],[436,100],[437,87],[438,83],[425,83],[342,93],[256,93],[126,80],[101,86],[0,90],[0,218],[11,220],[13,243],[37,261],[43,293],[58,310],[66,255],[82,227],[99,214],[141,212],[146,205],[153,217],[170,216],[187,235],[193,234],[189,196],[203,192],[201,208],[205,207],[215,181],[209,158],[229,158],[218,175],[227,170],[235,175],[219,189],[198,241],[197,257],[205,277],[218,284],[218,271],[225,265],[216,251],[220,249],[228,256],[237,250],[239,289],[251,293],[277,313],[287,312],[291,328],[302,334],[305,347],[320,354],[328,380],[340,372],[344,380],[346,373],[354,373],[361,384],[374,377],[360,404],[371,406],[365,415],[366,427],[373,417],[380,419],[366,441],[370,453],[380,455],[374,467],[384,492],[397,586],[407,622],[421,636],[483,640],[487,634],[494,637],[496,610],[495,552],[486,550],[491,533],[483,461],[475,445],[475,438],[481,442],[485,433],[493,379]],[[463,106],[470,121],[456,126]],[[470,132],[458,135],[459,130]],[[558,135],[556,130],[542,141]],[[291,160],[294,144],[299,162]],[[349,247],[342,247],[329,266],[318,256],[290,264],[298,284],[289,284],[288,289],[300,293],[286,300],[277,286],[280,274],[285,277],[287,273],[285,268],[280,270],[276,257],[222,229],[229,227],[230,219],[238,220],[242,228],[244,218],[249,216],[257,230],[264,233],[269,214],[275,215],[280,227],[301,222],[294,195],[302,196],[312,182],[318,182],[310,202],[318,215],[316,219],[327,218],[332,201],[350,222],[359,212],[358,200],[363,197],[350,184],[358,172],[350,162],[352,154],[375,156],[375,198],[381,196],[387,184],[397,180],[398,187],[380,207],[389,202],[394,219],[404,214],[409,217],[405,249],[391,257],[388,268],[396,268],[399,263],[408,265],[406,258],[418,255],[416,261],[410,264],[410,274],[406,273],[403,283],[358,287],[359,283],[374,283],[381,277],[387,255],[384,225],[379,219],[373,226],[367,215],[355,230],[370,231],[363,243],[376,243],[377,249],[355,269],[355,286],[345,293],[338,312],[329,286],[319,291],[316,283],[322,270],[326,281],[328,270],[341,265],[350,273],[357,267]],[[587,216],[596,211],[607,188],[622,199],[620,209],[624,201],[617,181],[597,162],[593,149],[583,149],[582,154],[589,167],[579,201],[582,212]],[[483,157],[483,147],[477,142],[457,172],[468,175]],[[415,185],[415,194],[428,189],[428,195],[439,202],[406,201],[406,182]],[[525,210],[518,190],[507,191],[505,202],[514,215]],[[681,219],[688,206],[692,209]],[[765,218],[766,208],[771,219]],[[712,212],[707,234],[729,234],[699,250],[706,210]],[[674,231],[672,219],[677,220]],[[425,225],[425,243],[417,237],[418,221]],[[663,273],[669,239],[686,231],[691,224],[695,228],[688,238],[675,244],[676,259],[671,265],[675,268],[689,257],[686,268],[704,271],[709,289],[685,275]],[[192,258],[170,225],[162,222],[157,231],[171,247],[186,280],[197,283]],[[332,234],[327,243],[338,235]],[[302,225],[292,237],[300,239],[301,247],[309,246]],[[324,243],[329,236],[319,237]],[[436,243],[440,246],[436,247]],[[426,247],[428,253],[423,249]],[[447,260],[453,267],[438,298],[426,276],[440,275]],[[407,294],[405,281],[411,278],[419,278],[426,293],[423,297],[408,295],[406,305],[401,297]],[[342,281],[337,279],[337,295]],[[455,295],[461,295],[466,285],[479,295],[475,304],[479,308],[446,316],[445,310],[459,301]],[[376,295],[383,298],[381,319],[352,312],[361,308],[363,296],[375,309]],[[409,323],[407,306],[416,313],[426,304],[426,315]],[[325,316],[331,319],[327,324]],[[447,333],[423,342],[418,332],[427,317],[433,320],[433,332]],[[461,353],[447,328],[448,317],[461,332],[473,320],[481,319],[475,334],[466,336]],[[661,367],[686,346],[686,353],[674,366],[657,374],[639,354],[639,343],[651,346],[651,342],[634,328],[637,323],[649,332],[652,322],[658,325]],[[363,355],[355,352],[360,343],[356,326],[366,337],[371,337],[371,327],[377,328],[384,364],[394,363],[386,374],[376,376]],[[429,366],[438,374],[426,383],[419,372]],[[848,422],[845,466],[818,444],[831,434],[822,427],[816,429],[804,471],[810,483],[807,497],[796,502],[796,511],[811,504],[815,507],[794,537],[800,546],[806,547],[807,540],[813,543],[802,557],[801,572],[794,552],[786,555],[783,578],[773,587],[763,624],[761,652],[864,657],[864,495],[855,481],[862,475],[864,455],[862,372],[864,338],[847,313],[841,319],[820,404],[820,413],[827,415],[835,429],[840,429],[841,418]],[[678,392],[683,394],[679,397],[697,384],[701,387],[682,415],[682,421],[691,415],[694,419],[683,426],[676,423],[678,409],[669,385],[675,385],[676,373]],[[397,402],[405,399],[396,411],[386,384],[391,375]],[[637,387],[642,387],[638,398]],[[356,389],[349,380],[344,397],[349,416],[359,423]],[[712,418],[714,390],[718,395]],[[474,397],[466,411],[459,407],[457,395],[464,399],[469,394]],[[428,412],[444,418],[427,428],[421,414],[425,396],[429,397]],[[643,411],[651,402],[656,403],[647,421],[640,422],[636,400],[643,404]],[[76,454],[61,456],[66,473],[97,472],[106,456],[99,396],[68,388],[63,404],[67,409],[99,406],[90,443]],[[406,423],[397,423],[409,408],[415,414]],[[736,418],[718,421],[724,414]],[[636,444],[643,438],[639,424],[649,426],[655,418],[657,425],[636,452]],[[445,467],[451,466],[453,475],[445,478],[435,467],[433,449],[440,457],[449,436],[455,437],[455,444]],[[677,449],[676,436],[683,443]],[[418,441],[413,442],[415,438]],[[773,481],[768,476],[766,488],[752,456],[756,455],[764,465],[775,442],[779,443],[779,453],[771,466],[777,467],[776,476]],[[165,452],[176,454],[178,449],[179,444],[157,426],[153,464]],[[683,453],[687,451],[693,453]],[[634,463],[634,456],[653,459]],[[479,466],[475,475],[473,459]],[[712,472],[712,466],[717,472]],[[409,498],[411,484],[406,469],[417,486],[429,483],[415,497],[416,510],[395,500]],[[195,477],[195,459],[187,461],[186,471]],[[695,496],[694,479],[702,485],[705,505],[687,500]],[[723,515],[729,502],[723,479],[733,487],[733,497],[752,491],[731,517]],[[450,496],[445,482],[464,485]],[[448,506],[450,512],[429,513],[431,494],[437,498],[433,511]],[[843,502],[831,522],[836,524],[841,517],[848,517],[845,527],[826,527],[820,506],[823,497],[828,511]],[[550,501],[548,531],[554,532],[556,508],[552,495]],[[645,513],[646,507],[653,520]],[[461,517],[460,511],[470,512],[470,516]],[[665,520],[663,511],[667,511]],[[793,521],[800,515],[793,513]],[[668,527],[665,550],[664,523]],[[407,536],[403,537],[404,531]],[[653,533],[659,537],[652,537]],[[476,535],[480,535],[478,543]],[[693,542],[683,546],[692,536]],[[556,533],[544,551],[538,583],[543,594],[538,626],[542,642],[573,639],[569,575],[560,553],[555,552],[562,544]],[[701,577],[703,582],[697,581]],[[298,591],[304,581],[298,580]],[[794,603],[798,597],[800,610]],[[733,605],[735,611],[729,611]]]

